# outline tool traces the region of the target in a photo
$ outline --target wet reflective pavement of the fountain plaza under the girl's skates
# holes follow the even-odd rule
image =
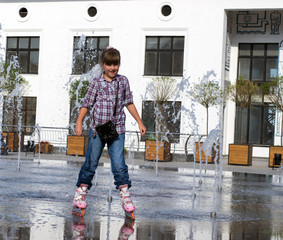
[[[71,211],[83,158],[22,156],[19,171],[16,155],[1,156],[0,239],[283,239],[277,170],[260,170],[257,163],[246,169],[258,173],[236,172],[224,163],[221,179],[213,165],[200,178],[191,163],[160,163],[156,174],[154,162],[127,161],[134,222],[124,216],[106,158],[82,219]]]

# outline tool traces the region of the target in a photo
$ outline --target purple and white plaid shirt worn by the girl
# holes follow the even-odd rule
[[[116,116],[113,119],[113,110],[119,82]],[[127,77],[117,74],[112,82],[107,81],[103,74],[94,78],[81,107],[90,112],[90,128],[96,133],[95,126],[113,120],[118,134],[125,133],[124,106],[133,103],[133,95]]]

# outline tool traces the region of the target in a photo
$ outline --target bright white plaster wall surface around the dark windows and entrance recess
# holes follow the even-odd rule
[[[2,1],[3,2],[3,1]],[[3,36],[39,36],[39,73],[24,75],[30,82],[26,95],[37,97],[36,122],[42,126],[65,127],[69,124],[69,99],[66,83],[72,68],[73,37],[107,35],[110,45],[120,50],[120,73],[126,75],[134,93],[134,101],[141,113],[142,100],[151,77],[143,76],[145,37],[150,35],[185,36],[184,76],[190,83],[198,82],[207,71],[216,73],[215,80],[224,80],[226,47],[225,9],[282,8],[282,1],[264,0],[134,0],[134,1],[58,1],[18,3],[0,1],[0,23]],[[170,4],[172,17],[160,14],[163,4]],[[87,8],[94,5],[98,15],[94,21]],[[29,11],[26,21],[20,21],[18,10]],[[282,26],[281,26],[282,27]],[[282,29],[281,29],[282,30]],[[244,41],[279,41],[281,36],[231,35],[231,66],[229,79],[236,79],[237,44]],[[4,43],[5,46],[5,43]],[[181,82],[181,78],[177,78]],[[189,95],[180,99],[191,109]],[[205,109],[196,106],[199,133],[205,133]],[[210,109],[210,130],[219,124],[219,107]],[[224,154],[233,142],[235,107],[228,103],[224,123]],[[131,116],[127,116],[127,129],[137,130]],[[181,132],[190,133],[192,119],[182,113]]]

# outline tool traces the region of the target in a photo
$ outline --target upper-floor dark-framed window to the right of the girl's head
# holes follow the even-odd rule
[[[182,76],[184,37],[146,37],[145,75]]]

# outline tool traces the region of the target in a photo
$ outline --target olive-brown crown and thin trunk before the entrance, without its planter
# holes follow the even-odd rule
[[[227,86],[226,94],[241,108],[241,144],[244,137],[244,108],[251,106],[251,97],[259,93],[259,86],[240,77],[235,84]]]

